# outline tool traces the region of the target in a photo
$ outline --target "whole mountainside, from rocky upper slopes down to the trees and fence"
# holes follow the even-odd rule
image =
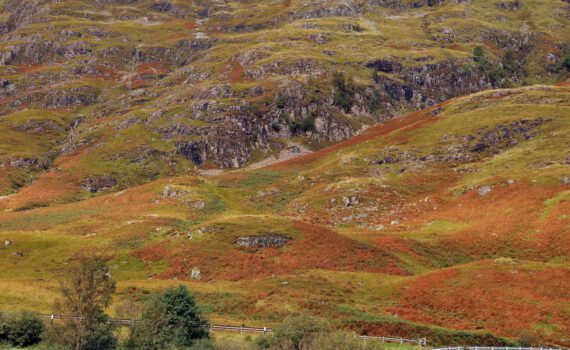
[[[0,0],[0,310],[97,254],[213,323],[567,346],[569,6]]]

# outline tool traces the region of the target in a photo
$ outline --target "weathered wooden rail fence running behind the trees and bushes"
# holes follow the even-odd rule
[[[22,315],[21,313],[9,313],[9,312],[0,312],[0,315],[2,316],[19,316]],[[39,314],[38,315],[41,318],[47,319],[47,320],[51,320],[51,321],[62,321],[62,320],[77,320],[77,321],[81,321],[84,318],[83,317],[79,317],[79,316],[67,316],[67,315],[48,315],[48,314]],[[123,325],[123,326],[134,326],[137,323],[143,322],[142,320],[134,320],[134,319],[123,319],[123,318],[108,318],[107,322],[109,323],[113,323],[113,324],[119,324],[119,325]],[[263,334],[267,334],[267,333],[273,333],[274,330],[271,328],[267,328],[267,327],[263,327],[263,328],[257,328],[257,327],[248,327],[248,326],[228,326],[228,325],[215,325],[212,324],[209,326],[210,331],[229,331],[229,332],[240,332],[240,333],[263,333]],[[360,339],[362,340],[378,340],[381,341],[383,343],[400,343],[400,344],[416,344],[418,346],[427,346],[427,339],[426,338],[420,338],[420,339],[408,339],[408,338],[401,338],[401,337],[382,337],[382,336],[373,336],[373,335],[360,335],[359,336]],[[444,350],[444,349],[441,349]],[[449,349],[445,349],[445,350],[465,350],[465,349],[459,349],[459,348],[449,348]],[[472,350],[472,349],[469,349]],[[477,349],[473,349],[473,350],[477,350]],[[487,349],[483,349],[483,348],[479,348],[479,350],[487,350]],[[505,350],[505,349],[499,349],[499,348],[495,348],[494,350]],[[506,349],[506,350],[515,350],[515,348],[511,348],[511,349]],[[522,350],[527,350],[527,349],[522,349]],[[537,349],[533,349],[533,350],[537,350]],[[543,350],[549,350],[549,349],[543,349]],[[554,350],[554,349],[552,349]]]

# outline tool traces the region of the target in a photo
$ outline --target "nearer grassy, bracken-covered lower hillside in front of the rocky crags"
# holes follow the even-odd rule
[[[109,257],[116,304],[183,282],[216,322],[306,311],[431,344],[530,330],[567,346],[569,141],[568,84],[490,90],[259,169],[58,202],[78,148],[0,200],[0,309],[49,312],[58,271],[90,252]]]

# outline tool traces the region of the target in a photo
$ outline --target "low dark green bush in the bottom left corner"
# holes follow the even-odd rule
[[[0,343],[18,347],[32,346],[42,340],[43,332],[43,321],[31,313],[24,313],[11,320],[4,317],[0,319]]]

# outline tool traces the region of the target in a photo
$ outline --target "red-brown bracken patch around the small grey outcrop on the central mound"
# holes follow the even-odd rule
[[[397,258],[385,250],[305,222],[297,221],[294,226],[303,238],[292,240],[281,249],[248,251],[206,240],[177,244],[171,250],[164,249],[165,243],[154,244],[137,250],[134,255],[143,260],[170,261],[171,267],[159,276],[162,278],[188,278],[194,266],[200,267],[208,280],[260,278],[315,268],[407,274]]]

